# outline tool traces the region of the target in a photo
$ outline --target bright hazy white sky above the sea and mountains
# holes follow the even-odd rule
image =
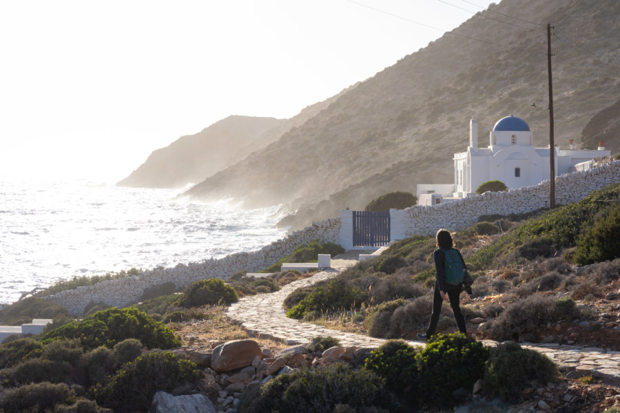
[[[490,3],[446,2],[0,0],[0,180],[113,183],[231,114],[289,118]]]

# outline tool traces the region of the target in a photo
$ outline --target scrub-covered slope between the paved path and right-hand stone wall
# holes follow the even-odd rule
[[[455,233],[474,278],[468,331],[498,341],[620,349],[620,184],[531,217],[483,217]],[[608,247],[609,246],[609,247]],[[335,279],[292,293],[287,315],[373,337],[413,338],[431,315],[434,237],[393,244]],[[587,264],[587,265],[583,265]],[[456,329],[444,306],[440,331]],[[579,320],[575,324],[575,320]]]

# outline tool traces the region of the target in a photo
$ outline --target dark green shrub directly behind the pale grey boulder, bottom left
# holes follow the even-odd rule
[[[172,352],[154,352],[123,366],[107,383],[91,390],[96,402],[116,413],[146,412],[158,390],[172,392],[203,377],[198,366]]]

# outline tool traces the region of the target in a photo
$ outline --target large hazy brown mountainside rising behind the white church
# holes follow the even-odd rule
[[[521,20],[500,23],[510,19],[494,12]],[[555,141],[566,147],[575,138],[584,147],[582,129],[620,92],[617,66],[600,61],[620,60],[619,17],[614,0],[504,0],[342,94],[317,116],[187,195],[231,195],[247,207],[289,204],[308,224],[342,207],[363,206],[389,189],[450,182],[453,153],[468,144],[472,117],[479,123],[480,145],[495,121],[510,112],[528,122],[537,145],[545,145],[547,22],[557,32],[552,41]],[[330,197],[337,202],[327,208]],[[321,201],[326,208],[319,213],[316,202]]]

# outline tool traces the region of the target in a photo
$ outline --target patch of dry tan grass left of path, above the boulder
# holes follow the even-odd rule
[[[225,306],[205,306],[203,320],[183,321],[169,324],[180,335],[184,346],[212,348],[216,343],[231,340],[253,339],[261,348],[279,350],[287,345],[269,338],[250,337],[245,330],[226,316]]]

